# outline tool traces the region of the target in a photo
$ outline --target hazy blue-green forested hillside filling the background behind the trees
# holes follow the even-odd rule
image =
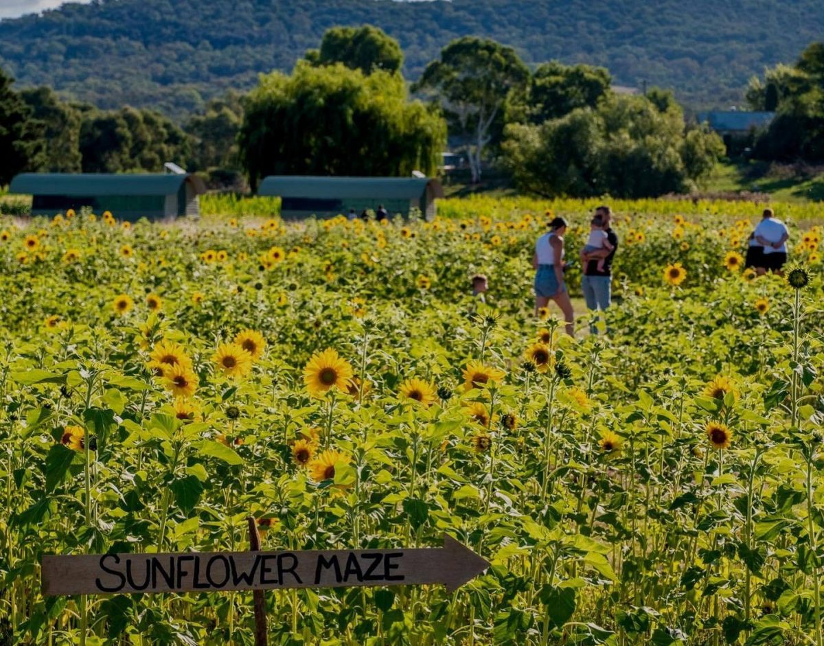
[[[96,0],[0,21],[0,67],[101,107],[181,115],[256,75],[289,70],[324,30],[371,23],[418,77],[461,35],[527,63],[606,66],[616,84],[672,87],[694,107],[740,101],[747,79],[824,38],[822,0]]]

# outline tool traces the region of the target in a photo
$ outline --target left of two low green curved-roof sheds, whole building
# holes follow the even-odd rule
[[[111,211],[115,218],[136,221],[199,215],[202,180],[190,174],[24,173],[9,193],[30,194],[32,215],[54,215],[89,207]]]

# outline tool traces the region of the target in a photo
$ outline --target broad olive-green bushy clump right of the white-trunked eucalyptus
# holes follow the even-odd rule
[[[541,125],[513,124],[503,144],[513,177],[544,195],[646,197],[686,190],[723,154],[717,135],[685,133],[681,109],[611,96]]]

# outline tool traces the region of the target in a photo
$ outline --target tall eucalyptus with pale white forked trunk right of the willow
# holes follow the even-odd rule
[[[529,70],[512,47],[465,36],[441,50],[429,63],[416,90],[434,93],[455,133],[466,138],[472,181],[480,181],[490,128],[513,89],[523,87]]]

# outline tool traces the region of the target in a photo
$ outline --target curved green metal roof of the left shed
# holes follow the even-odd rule
[[[171,195],[185,181],[194,185],[195,193],[204,193],[203,181],[192,175],[147,173],[143,175],[111,173],[23,173],[9,186],[9,193],[36,195]]]

